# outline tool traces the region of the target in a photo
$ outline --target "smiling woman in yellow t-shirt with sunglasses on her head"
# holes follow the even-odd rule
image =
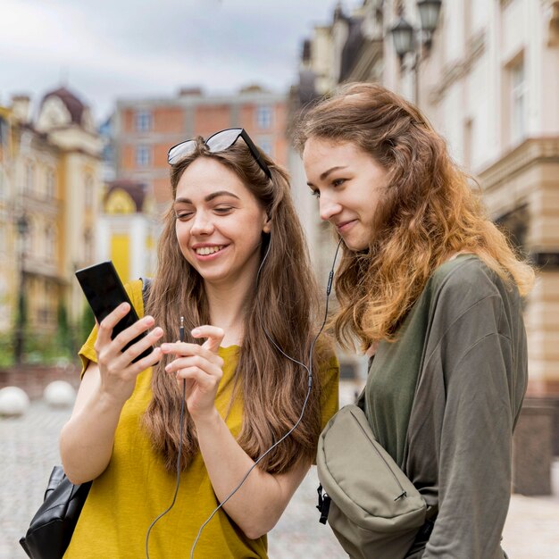
[[[185,557],[195,541],[198,557],[265,557],[337,408],[338,364],[313,347],[317,294],[285,171],[242,129],[183,142],[169,159],[173,202],[146,313],[132,282],[143,318],[112,340],[121,305],[80,351],[61,454],[71,480],[94,481],[66,557],[136,558],[145,546]]]

